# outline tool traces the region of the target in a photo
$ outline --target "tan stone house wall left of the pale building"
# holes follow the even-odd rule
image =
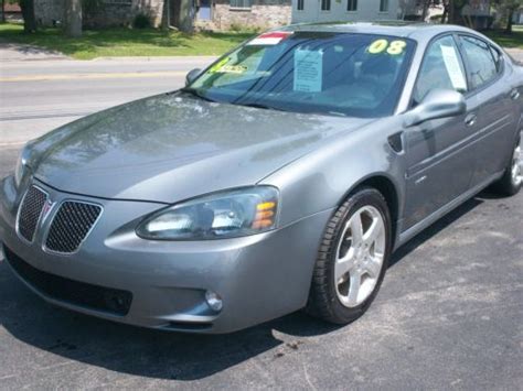
[[[227,0],[216,0],[212,8],[212,21],[216,29],[231,26],[268,29],[290,23],[290,0],[258,0],[250,9],[234,9]]]

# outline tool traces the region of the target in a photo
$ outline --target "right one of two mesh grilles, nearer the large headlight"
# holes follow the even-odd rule
[[[75,252],[102,214],[98,205],[64,202],[51,222],[45,248],[61,253]]]

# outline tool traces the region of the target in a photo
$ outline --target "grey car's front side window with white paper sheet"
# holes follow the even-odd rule
[[[414,88],[413,106],[419,105],[433,89],[467,91],[465,67],[450,35],[433,42],[427,48]]]

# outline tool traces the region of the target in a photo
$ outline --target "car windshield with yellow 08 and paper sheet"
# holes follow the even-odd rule
[[[414,46],[373,34],[270,32],[220,58],[186,90],[233,105],[384,117],[396,107]]]

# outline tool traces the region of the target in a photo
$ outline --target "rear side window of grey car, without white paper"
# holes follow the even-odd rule
[[[478,88],[492,80],[498,68],[490,45],[472,36],[461,36],[461,43],[468,59],[470,87]]]

